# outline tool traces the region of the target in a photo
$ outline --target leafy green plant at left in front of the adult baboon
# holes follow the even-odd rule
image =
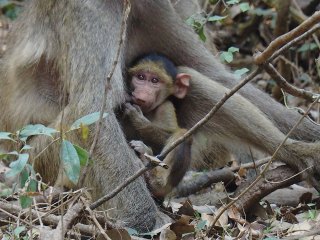
[[[107,117],[107,113],[103,114],[103,118]],[[100,113],[95,112],[88,114],[84,117],[76,120],[68,129],[63,138],[67,136],[67,133],[80,129],[82,131],[82,137],[87,137],[87,133],[83,131],[89,131],[89,125],[97,122],[100,118]],[[9,164],[10,170],[6,173],[7,178],[17,177],[19,181],[17,185],[20,187],[20,205],[23,208],[29,207],[32,204],[33,193],[38,189],[38,181],[36,180],[36,172],[33,166],[28,163],[30,155],[28,151],[32,149],[32,145],[27,144],[28,140],[32,136],[44,135],[52,138],[52,142],[59,140],[60,137],[56,138],[59,131],[46,127],[42,124],[30,124],[15,133],[0,132],[0,140],[12,141],[16,143],[18,151],[12,151],[8,153],[0,153],[1,159],[11,160]],[[60,159],[61,166],[66,176],[74,184],[77,184],[80,177],[81,166],[87,165],[89,153],[78,145],[72,144],[67,139],[61,140],[60,145]],[[12,160],[13,159],[13,160]],[[6,191],[8,193],[8,191]],[[3,195],[3,193],[1,193]]]

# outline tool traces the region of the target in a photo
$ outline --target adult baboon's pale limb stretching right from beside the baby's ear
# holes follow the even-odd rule
[[[207,114],[208,109],[211,109],[229,89],[194,69],[180,67],[179,72],[191,76],[190,92],[177,107],[178,116],[184,116],[184,118],[178,118],[179,125],[189,128]],[[201,108],[198,107],[198,102],[203,104]],[[197,109],[197,115],[191,114],[186,106],[189,109]],[[257,106],[237,93],[193,136],[191,165],[196,169],[208,166],[221,167],[226,163],[223,158],[227,156],[225,154],[236,153],[237,148],[242,146],[252,146],[272,155],[284,138],[285,135]],[[216,145],[224,146],[227,151],[221,151],[219,155],[220,151]],[[210,149],[215,149],[216,152],[211,152]],[[210,157],[209,153],[213,155]],[[314,166],[317,172],[319,171],[317,162],[320,160],[320,143],[307,143],[289,138],[276,155],[276,160],[283,161],[301,171],[307,166]],[[310,175],[304,175],[310,179]]]

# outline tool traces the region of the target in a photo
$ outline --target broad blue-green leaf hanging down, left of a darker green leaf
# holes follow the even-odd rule
[[[60,148],[63,169],[71,182],[77,184],[80,176],[80,159],[71,142],[63,140]]]

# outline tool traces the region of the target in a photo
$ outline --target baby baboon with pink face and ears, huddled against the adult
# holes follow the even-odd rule
[[[138,106],[126,104],[123,125],[127,129],[127,137],[134,140],[130,142],[131,147],[140,154],[140,158],[146,165],[149,162],[144,154],[153,154],[153,150],[147,147],[144,142],[155,146],[153,139],[162,139],[162,144],[156,146],[156,149],[158,151],[159,149],[165,150],[186,132],[186,129],[179,127],[175,108],[172,102],[167,99],[175,96],[175,89],[180,90],[179,97],[184,97],[187,94],[189,76],[180,74],[173,80],[164,69],[161,61],[151,60],[142,60],[131,67],[129,71],[132,101],[141,109]],[[138,80],[136,74],[143,76],[144,80]],[[154,77],[159,80],[157,83],[151,82]],[[183,80],[181,77],[184,77]],[[149,105],[157,107],[145,112],[144,106]],[[173,187],[178,185],[190,166],[190,149],[191,139],[188,139],[163,159],[169,167],[168,170],[157,167],[145,174],[149,189],[154,197],[163,199]]]

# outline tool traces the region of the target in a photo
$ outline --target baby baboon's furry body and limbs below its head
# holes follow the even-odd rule
[[[175,109],[168,100],[152,112],[152,117],[148,114],[149,118],[142,117],[135,108],[128,108],[128,105],[125,113],[125,133],[128,139],[135,140],[131,141],[130,145],[140,154],[145,165],[148,160],[143,154],[153,155],[154,151],[159,154],[161,149],[165,150],[186,132],[186,129],[177,125]],[[158,144],[155,144],[154,139],[157,139]],[[163,139],[163,142],[160,143],[159,139]],[[186,140],[164,158],[163,162],[169,169],[156,167],[146,173],[147,183],[154,197],[164,198],[181,181],[190,166],[191,142],[191,139]],[[149,143],[153,149],[145,143]]]

